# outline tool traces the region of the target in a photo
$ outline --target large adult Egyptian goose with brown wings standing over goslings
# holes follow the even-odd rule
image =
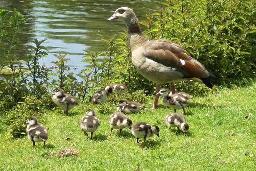
[[[182,46],[168,40],[149,40],[140,30],[140,24],[134,12],[127,7],[118,8],[108,19],[121,20],[128,28],[128,42],[132,51],[132,63],[138,72],[156,84],[156,93],[160,85],[170,82],[194,80],[212,88],[209,78],[215,77],[197,60],[193,59]],[[156,95],[153,109],[157,108]]]

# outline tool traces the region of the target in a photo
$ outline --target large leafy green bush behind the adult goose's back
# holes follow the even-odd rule
[[[256,64],[255,0],[166,0],[148,14],[145,32],[152,39],[182,45],[217,76],[218,84],[247,83]]]

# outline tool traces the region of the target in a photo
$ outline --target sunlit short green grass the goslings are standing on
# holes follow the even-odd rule
[[[59,108],[46,112],[43,125],[50,128],[45,149],[43,143],[36,143],[33,149],[27,137],[10,137],[8,127],[0,124],[0,170],[255,170],[255,92],[256,84],[215,89],[203,96],[193,94],[186,108],[190,126],[187,137],[176,129],[168,130],[164,117],[173,110],[162,106],[160,98],[158,109],[128,115],[133,123],[144,121],[160,128],[160,138],[154,135],[141,145],[127,128],[123,135],[114,129],[108,137],[111,113],[101,114],[97,107],[101,125],[94,132],[96,138],[85,137],[79,122],[93,107],[90,102],[70,110],[68,116],[62,116]],[[153,103],[153,98],[149,101]],[[152,107],[150,103],[146,107]],[[246,119],[249,113],[253,116]],[[226,130],[234,131],[234,135]],[[79,155],[56,157],[61,149],[70,148],[80,151]],[[249,157],[246,152],[255,155]]]

